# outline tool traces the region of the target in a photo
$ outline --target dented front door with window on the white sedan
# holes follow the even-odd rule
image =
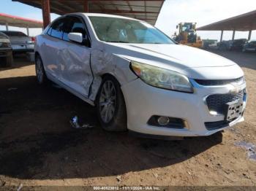
[[[71,32],[83,34],[84,42],[71,42],[68,38]],[[89,97],[93,76],[90,66],[91,44],[86,39],[89,39],[89,33],[83,19],[75,15],[67,16],[63,33],[64,50],[60,58],[60,80],[80,95]]]

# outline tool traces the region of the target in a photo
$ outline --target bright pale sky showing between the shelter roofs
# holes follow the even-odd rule
[[[0,12],[28,17],[34,20],[42,20],[42,10],[11,0],[0,0]],[[176,25],[181,22],[197,23],[197,27],[205,26],[219,20],[241,15],[256,9],[256,0],[165,0],[159,14],[156,26],[165,34],[172,36],[176,31]],[[51,14],[51,20],[59,15]],[[10,30],[23,31],[25,28],[9,27]],[[5,30],[5,26],[0,26]],[[29,33],[35,36],[42,32],[41,28],[31,28]],[[218,39],[220,31],[197,31],[202,39]],[[236,31],[235,39],[247,38],[248,31]],[[232,31],[225,31],[223,39],[232,39]],[[252,31],[252,39],[256,39],[256,31]]]

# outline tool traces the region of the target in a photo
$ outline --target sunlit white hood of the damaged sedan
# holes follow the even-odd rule
[[[105,43],[105,51],[129,61],[177,71],[193,79],[233,79],[244,75],[240,67],[227,58],[181,44]],[[230,73],[230,69],[236,71]],[[220,71],[224,72],[219,75]]]

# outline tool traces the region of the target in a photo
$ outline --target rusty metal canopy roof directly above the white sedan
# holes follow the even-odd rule
[[[28,4],[42,9],[42,0],[12,0]],[[89,0],[89,12],[106,13],[112,15],[122,15],[139,20],[145,20],[148,23],[155,24],[162,4],[165,0]],[[84,12],[83,0],[50,0],[50,12],[65,15],[72,12]]]

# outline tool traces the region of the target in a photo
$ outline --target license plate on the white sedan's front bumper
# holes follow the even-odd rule
[[[225,104],[225,120],[232,121],[243,114],[244,101],[236,100]]]

